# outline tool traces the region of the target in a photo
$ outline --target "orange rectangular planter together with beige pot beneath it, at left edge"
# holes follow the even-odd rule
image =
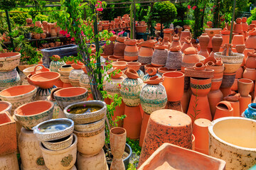
[[[16,122],[8,111],[0,113],[0,132],[0,169],[18,170]]]

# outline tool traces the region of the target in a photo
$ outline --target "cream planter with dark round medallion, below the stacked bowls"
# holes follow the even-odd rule
[[[58,151],[46,149],[42,142],[40,142],[40,149],[43,153],[43,159],[47,168],[49,170],[71,169],[74,166],[77,157],[77,144],[78,137],[76,137],[76,135],[73,135],[73,143],[70,147]]]

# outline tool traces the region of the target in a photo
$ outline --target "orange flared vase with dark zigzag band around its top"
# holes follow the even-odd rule
[[[193,94],[191,96],[187,114],[191,117],[192,122],[198,118],[212,120],[207,96],[210,92],[210,87],[211,79],[191,77],[191,90]]]

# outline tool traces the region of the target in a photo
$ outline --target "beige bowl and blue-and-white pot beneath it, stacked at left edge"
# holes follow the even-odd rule
[[[16,71],[21,59],[18,52],[5,52],[0,54],[0,91],[20,84],[21,78]]]

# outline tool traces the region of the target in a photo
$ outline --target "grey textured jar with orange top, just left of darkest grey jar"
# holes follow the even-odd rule
[[[159,45],[154,47],[154,54],[152,56],[151,64],[157,67],[163,67],[166,64],[168,57],[168,50],[166,45]]]

